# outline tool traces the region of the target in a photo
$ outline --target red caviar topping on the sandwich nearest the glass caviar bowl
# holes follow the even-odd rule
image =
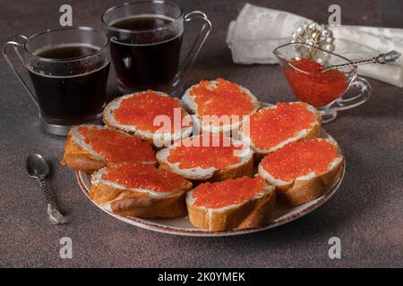
[[[250,137],[255,147],[268,149],[300,130],[312,127],[316,118],[304,103],[279,103],[275,108],[264,108],[250,117]]]

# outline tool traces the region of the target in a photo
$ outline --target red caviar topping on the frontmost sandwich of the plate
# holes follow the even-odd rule
[[[194,205],[210,208],[237,205],[262,193],[265,186],[266,182],[262,177],[206,182],[194,189]]]

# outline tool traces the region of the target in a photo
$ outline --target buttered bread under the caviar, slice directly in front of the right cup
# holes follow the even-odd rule
[[[155,91],[160,97],[169,97],[166,93]],[[183,126],[180,131],[176,131],[174,133],[172,132],[164,132],[164,133],[156,133],[156,132],[151,132],[148,130],[141,130],[135,125],[125,125],[125,124],[120,124],[119,122],[116,121],[114,117],[114,111],[119,108],[121,105],[122,101],[126,98],[129,97],[136,97],[140,95],[141,92],[136,92],[133,94],[125,95],[123,97],[117,97],[114,100],[112,100],[109,104],[104,109],[104,116],[103,116],[103,121],[105,124],[107,124],[108,127],[110,128],[115,128],[118,130],[124,130],[125,132],[128,132],[130,134],[133,134],[137,137],[140,137],[141,139],[149,142],[150,144],[154,144],[156,141],[159,141],[159,145],[157,147],[160,147],[160,145],[169,145],[172,142],[176,142],[179,139],[183,138],[188,138],[192,134],[192,125],[190,126]],[[176,100],[179,102],[177,98],[171,97],[172,100]],[[189,114],[185,113],[185,116],[190,116]],[[192,122],[190,120],[190,122]]]

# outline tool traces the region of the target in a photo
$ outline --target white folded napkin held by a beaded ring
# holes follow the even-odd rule
[[[273,50],[290,42],[297,27],[312,20],[279,10],[245,4],[231,21],[227,45],[235,63],[278,63]],[[403,29],[330,26],[335,53],[350,60],[369,59],[396,50],[403,52]],[[403,58],[396,63],[365,64],[358,73],[403,88]]]

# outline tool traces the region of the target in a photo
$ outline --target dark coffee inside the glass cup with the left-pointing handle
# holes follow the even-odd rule
[[[98,50],[94,46],[54,46],[41,50],[36,55],[68,60],[92,55]],[[79,63],[65,64],[73,66]],[[80,67],[80,71],[82,72],[79,75],[56,77],[29,69],[41,113],[47,117],[48,122],[52,122],[52,118],[80,121],[101,112],[106,98],[109,63],[102,67],[91,67],[86,63]]]

